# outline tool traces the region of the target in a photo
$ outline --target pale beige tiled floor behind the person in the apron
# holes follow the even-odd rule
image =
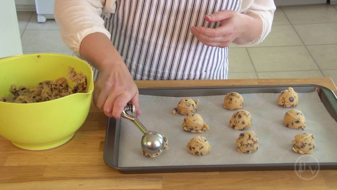
[[[73,55],[55,20],[37,23],[36,13],[18,12],[24,53]],[[229,50],[229,78],[331,77],[337,84],[337,5],[277,7],[272,31],[259,45]]]

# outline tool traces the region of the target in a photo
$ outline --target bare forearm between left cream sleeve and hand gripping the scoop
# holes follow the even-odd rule
[[[102,71],[112,64],[125,66],[122,57],[110,39],[100,32],[91,33],[82,40],[80,53],[98,71]]]

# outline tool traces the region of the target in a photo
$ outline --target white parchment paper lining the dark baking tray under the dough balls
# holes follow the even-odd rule
[[[224,95],[190,97],[200,100],[197,113],[210,126],[210,129],[200,134],[185,132],[181,127],[185,116],[171,114],[184,97],[140,95],[140,121],[148,130],[155,130],[167,137],[169,149],[157,158],[143,157],[140,144],[142,133],[131,121],[122,118],[118,167],[295,163],[303,156],[292,150],[294,135],[299,133],[313,134],[316,147],[311,155],[318,162],[337,162],[337,123],[325,109],[317,92],[299,93],[299,104],[295,109],[302,111],[305,116],[305,130],[283,125],[284,114],[294,108],[277,105],[279,94],[241,95],[245,102],[242,110],[252,115],[252,126],[244,131],[256,133],[259,140],[257,151],[249,154],[237,152],[236,138],[243,131],[229,126],[229,119],[237,110],[223,108]],[[204,136],[211,145],[211,151],[205,156],[194,156],[186,150],[185,145],[197,135]],[[301,161],[316,162],[314,158],[304,157]]]

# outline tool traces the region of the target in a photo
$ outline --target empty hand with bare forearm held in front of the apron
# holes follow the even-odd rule
[[[259,16],[241,14],[233,10],[221,10],[205,16],[208,22],[220,22],[217,28],[191,27],[192,34],[202,43],[213,47],[227,47],[232,42],[246,44],[261,33],[263,23]]]

